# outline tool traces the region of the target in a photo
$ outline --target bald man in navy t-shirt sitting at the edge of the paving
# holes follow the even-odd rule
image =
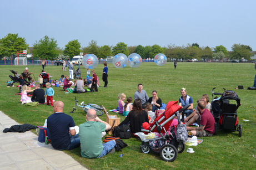
[[[48,117],[47,127],[49,139],[56,150],[72,150],[80,146],[80,140],[76,135],[74,120],[63,113],[64,104],[56,101],[53,105],[54,114]]]

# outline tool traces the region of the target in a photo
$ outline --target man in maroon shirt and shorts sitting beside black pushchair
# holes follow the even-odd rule
[[[213,136],[215,132],[215,120],[213,115],[208,109],[205,109],[206,103],[202,100],[198,102],[197,114],[195,114],[187,122],[187,130],[190,131],[193,135],[198,137]],[[192,123],[198,120],[200,117],[199,127],[189,127]]]

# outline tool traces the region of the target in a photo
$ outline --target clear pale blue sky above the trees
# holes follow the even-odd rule
[[[0,2],[0,38],[18,33],[29,46],[44,35],[58,47],[78,39],[82,47],[235,43],[256,50],[256,1],[60,1]]]

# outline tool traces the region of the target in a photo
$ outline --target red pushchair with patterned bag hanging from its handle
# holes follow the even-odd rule
[[[161,158],[168,162],[175,161],[178,153],[182,153],[184,151],[184,142],[188,138],[188,133],[186,126],[180,125],[179,113],[187,109],[189,105],[182,108],[182,106],[177,105],[177,103],[178,101],[168,102],[165,112],[158,116],[153,123],[143,123],[142,132],[158,132],[162,137],[142,141],[140,151],[143,153],[149,153],[151,150],[155,153],[160,153]],[[172,127],[170,134],[168,134],[167,130],[175,116],[178,117],[179,124],[177,127]],[[163,133],[165,135],[163,135]]]

